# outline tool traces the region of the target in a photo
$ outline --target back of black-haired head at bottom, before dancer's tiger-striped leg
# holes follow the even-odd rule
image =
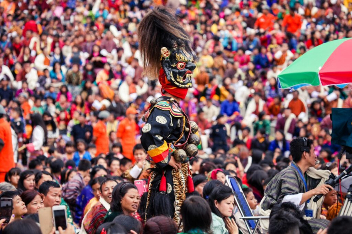
[[[191,229],[201,229],[204,233],[210,232],[212,223],[212,211],[206,200],[199,196],[187,198],[181,206],[183,232]]]

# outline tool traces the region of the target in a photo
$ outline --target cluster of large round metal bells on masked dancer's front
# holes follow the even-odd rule
[[[186,163],[189,159],[193,158],[198,154],[198,145],[200,143],[200,138],[196,134],[198,132],[198,125],[194,121],[190,121],[190,128],[185,128],[185,131],[191,131],[188,138],[188,144],[184,149],[176,149],[174,152],[174,158],[177,162]]]

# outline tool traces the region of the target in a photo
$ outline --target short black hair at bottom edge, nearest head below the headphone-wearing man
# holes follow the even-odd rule
[[[299,232],[300,221],[292,214],[281,210],[269,220],[269,234],[296,234]]]

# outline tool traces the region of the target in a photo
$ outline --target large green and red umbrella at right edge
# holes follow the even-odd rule
[[[352,38],[326,42],[304,53],[278,75],[279,88],[352,82]]]

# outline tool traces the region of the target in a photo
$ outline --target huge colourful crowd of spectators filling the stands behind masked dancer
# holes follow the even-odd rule
[[[143,232],[144,210],[137,212],[143,196],[139,202],[137,189],[121,189],[121,182],[149,175],[142,116],[161,86],[143,75],[136,32],[148,9],[161,4],[175,9],[197,55],[193,88],[180,105],[199,125],[199,155],[190,169],[208,202],[191,197],[181,213],[190,219],[198,208],[201,220],[213,222],[183,219],[185,233],[238,232],[230,219],[219,219],[232,214],[211,202],[227,200],[226,189],[210,193],[213,184],[204,195],[203,187],[237,176],[256,214],[265,185],[289,165],[294,138],[312,139],[316,168],[338,174],[340,147],[331,143],[329,114],[352,108],[352,86],[292,92],[278,88],[277,75],[309,49],[352,37],[351,0],[0,0],[0,181],[14,186],[0,190],[26,206],[14,206],[14,219],[64,204],[83,233],[130,232],[122,224],[133,220],[139,223],[133,231]],[[343,156],[340,163],[351,161]],[[129,207],[121,208],[126,194],[130,203],[122,206]],[[333,219],[341,204],[333,191],[326,197],[322,215]],[[111,222],[100,226],[105,219]],[[32,223],[25,220],[8,229],[22,222],[28,233]],[[172,222],[155,217],[144,233],[163,225],[176,233]]]

